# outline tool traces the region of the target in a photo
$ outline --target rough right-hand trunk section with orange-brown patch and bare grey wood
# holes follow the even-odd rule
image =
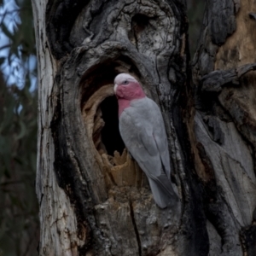
[[[192,64],[209,255],[256,253],[254,11],[253,1],[207,1]]]

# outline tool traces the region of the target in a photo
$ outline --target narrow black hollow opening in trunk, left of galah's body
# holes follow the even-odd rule
[[[108,96],[102,103],[102,119],[105,122],[102,128],[102,143],[105,145],[109,155],[116,150],[122,154],[125,149],[119,133],[118,102],[115,96]]]

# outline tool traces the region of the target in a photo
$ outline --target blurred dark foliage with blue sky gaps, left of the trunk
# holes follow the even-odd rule
[[[32,86],[35,65],[30,64],[35,40],[30,1],[15,3],[15,10],[0,16],[1,32],[9,38],[2,48],[8,54],[0,57],[9,72],[0,71],[0,255],[33,256],[39,233],[34,188],[38,103]],[[4,4],[0,0],[0,7]],[[4,22],[8,15],[14,17],[13,27]]]

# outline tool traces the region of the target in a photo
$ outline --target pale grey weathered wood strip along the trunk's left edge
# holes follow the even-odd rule
[[[45,33],[44,1],[32,2],[38,49],[38,167],[36,189],[40,206],[40,255],[76,255],[84,244],[85,232],[77,236],[78,219],[67,194],[58,186],[55,148],[51,135],[56,106],[54,79],[58,64],[51,55]]]

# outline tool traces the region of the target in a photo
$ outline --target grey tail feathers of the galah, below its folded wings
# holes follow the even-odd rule
[[[157,179],[148,177],[148,182],[154,201],[160,208],[173,206],[177,203],[178,196],[172,188],[172,183],[166,176],[162,176]]]

